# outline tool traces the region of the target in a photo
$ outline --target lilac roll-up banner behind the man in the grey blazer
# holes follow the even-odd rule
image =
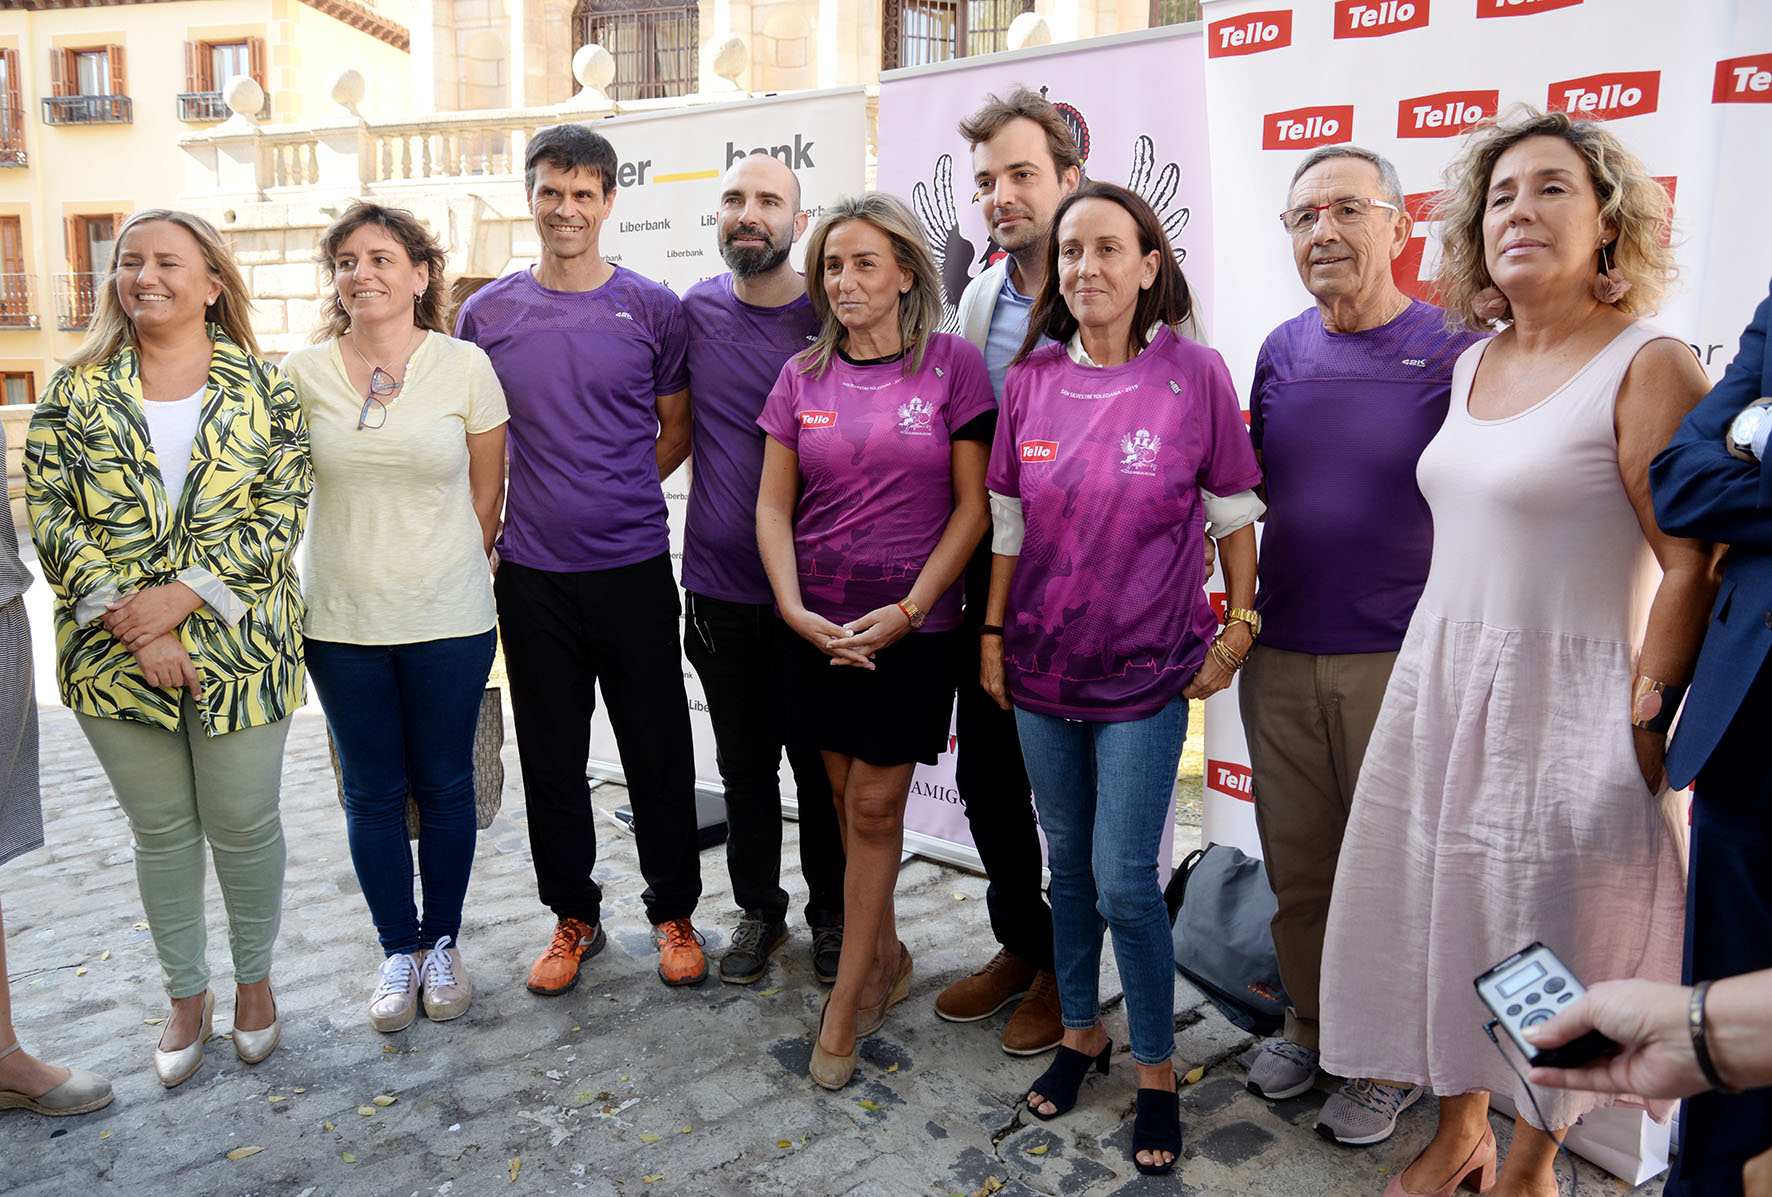
[[[989,94],[1044,92],[1072,120],[1084,174],[1141,193],[1180,228],[1177,246],[1210,328],[1212,221],[1207,212],[1207,119],[1200,25],[980,55],[881,76],[879,189],[916,207],[941,266],[952,315],[968,280],[1001,255],[973,204],[971,149],[955,127]],[[905,809],[905,846],[978,868],[953,788],[955,740],[920,767]],[[1159,868],[1173,853],[1168,822]]]

